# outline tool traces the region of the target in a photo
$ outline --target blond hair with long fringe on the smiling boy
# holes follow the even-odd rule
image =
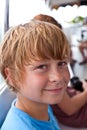
[[[53,24],[32,20],[10,29],[0,46],[0,71],[5,79],[5,68],[10,68],[11,78],[22,81],[25,65],[44,59],[69,58],[69,44]],[[11,86],[14,88],[14,86]]]

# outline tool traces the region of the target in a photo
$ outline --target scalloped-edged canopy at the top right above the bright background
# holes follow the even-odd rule
[[[87,0],[45,0],[45,2],[51,9],[58,9],[59,6],[66,6],[67,4],[87,5]]]

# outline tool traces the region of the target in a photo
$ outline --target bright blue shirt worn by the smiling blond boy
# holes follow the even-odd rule
[[[40,121],[16,108],[14,104],[15,101],[12,103],[1,130],[60,130],[50,106],[48,107],[50,120]]]

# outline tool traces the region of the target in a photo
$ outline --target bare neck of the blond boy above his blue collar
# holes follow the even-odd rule
[[[33,102],[29,99],[20,98],[20,96],[18,96],[15,106],[37,120],[49,120],[47,104]]]

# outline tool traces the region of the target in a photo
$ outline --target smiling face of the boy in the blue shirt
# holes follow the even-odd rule
[[[20,94],[37,103],[56,104],[63,98],[69,79],[67,61],[35,61],[25,67]]]

